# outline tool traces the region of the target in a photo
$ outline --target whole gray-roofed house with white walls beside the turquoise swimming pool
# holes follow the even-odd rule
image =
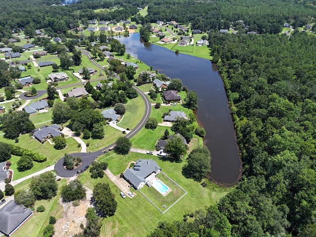
[[[139,159],[134,163],[133,168],[127,169],[123,173],[123,178],[133,186],[135,190],[139,190],[147,186],[151,186],[151,181],[161,171],[157,162],[152,159]]]

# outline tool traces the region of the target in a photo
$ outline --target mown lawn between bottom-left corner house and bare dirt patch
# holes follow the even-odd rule
[[[65,185],[66,179],[58,182],[58,188]],[[57,193],[57,196],[52,198],[51,200],[38,200],[35,202],[34,207],[37,208],[40,205],[45,207],[45,211],[41,213],[37,213],[36,211],[33,212],[33,216],[24,224],[22,225],[13,235],[12,237],[42,237],[44,228],[49,224],[49,217],[54,216],[56,219],[62,216],[64,208],[62,205],[59,204],[61,192]]]

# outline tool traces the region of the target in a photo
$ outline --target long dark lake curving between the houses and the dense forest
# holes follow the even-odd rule
[[[204,144],[211,152],[211,178],[222,185],[236,184],[241,161],[226,92],[216,66],[206,59],[143,43],[139,34],[117,39],[126,45],[126,53],[171,79],[181,79],[189,90],[197,92],[197,121],[206,131]]]

